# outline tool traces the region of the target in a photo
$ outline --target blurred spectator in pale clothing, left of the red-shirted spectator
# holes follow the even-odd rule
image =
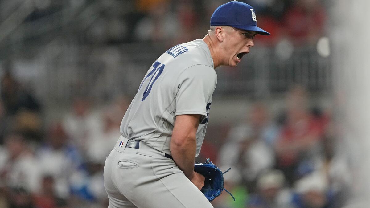
[[[272,122],[267,107],[261,102],[251,105],[246,120],[231,128],[219,152],[218,162],[238,168],[243,184],[251,192],[255,190],[260,172],[275,165],[273,145],[279,128]]]

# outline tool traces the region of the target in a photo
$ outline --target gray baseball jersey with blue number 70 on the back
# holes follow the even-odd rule
[[[170,48],[149,68],[123,117],[123,137],[145,142],[171,155],[169,144],[176,115],[200,114],[198,156],[217,75],[207,44],[194,40]]]

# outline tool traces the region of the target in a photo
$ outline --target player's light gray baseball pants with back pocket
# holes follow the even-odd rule
[[[173,160],[142,142],[125,147],[127,140],[121,136],[105,161],[108,208],[212,208]]]

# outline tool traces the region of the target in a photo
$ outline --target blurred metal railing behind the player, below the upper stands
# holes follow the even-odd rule
[[[43,73],[34,80],[38,94],[53,101],[82,95],[104,102],[119,94],[134,95],[148,68],[165,51],[147,45],[141,51],[143,44],[54,47],[60,47],[56,55],[49,50],[40,54],[36,63]],[[215,95],[268,97],[293,84],[310,91],[325,91],[331,85],[329,60],[310,47],[296,50],[287,60],[280,60],[273,48],[256,47],[237,67],[216,69]]]

